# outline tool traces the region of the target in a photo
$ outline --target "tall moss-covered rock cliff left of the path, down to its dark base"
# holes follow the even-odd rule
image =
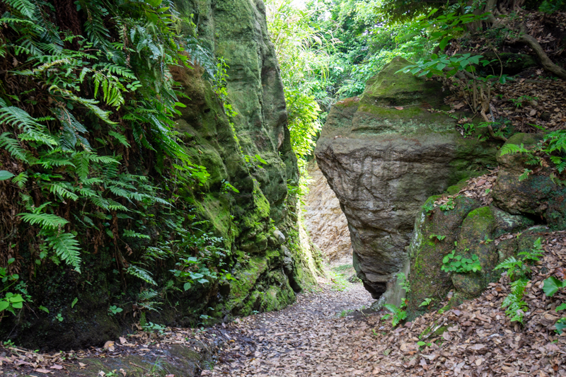
[[[36,310],[36,314],[24,311],[20,318],[4,318],[1,337],[33,349],[98,346],[139,322],[140,313],[144,320],[163,325],[196,325],[202,318],[227,320],[283,308],[294,301],[296,292],[316,282],[319,260],[299,227],[296,197],[287,191],[287,184],[296,185],[299,175],[262,1],[175,3],[183,33],[196,30],[213,58],[223,57],[229,66],[226,101],[238,113],[233,117],[226,115],[204,69],[173,66],[171,74],[180,83],[184,94],[180,102],[186,106],[176,120],[179,137],[192,162],[210,174],[201,187],[179,187],[178,197],[192,204],[193,211],[186,214],[189,219],[206,221],[200,227],[221,238],[227,256],[224,265],[216,268],[224,269],[231,279],[185,291],[171,273],[178,262],[171,253],[158,262],[144,262],[156,282],[147,286],[135,277],[123,277],[116,270],[114,254],[84,253],[88,274],[61,273],[58,269],[64,267],[46,265],[57,273],[44,272],[40,282],[29,279],[30,303],[50,308],[52,314]],[[129,161],[132,165],[144,166],[141,157],[135,158]],[[122,251],[131,255],[130,262],[139,262],[142,248],[153,245],[166,227],[161,214],[152,216],[154,221],[147,224],[151,241],[131,243],[132,249]],[[139,298],[140,292],[150,290],[155,291],[150,304],[158,310],[147,309]],[[110,305],[122,309],[120,314],[110,315]]]

